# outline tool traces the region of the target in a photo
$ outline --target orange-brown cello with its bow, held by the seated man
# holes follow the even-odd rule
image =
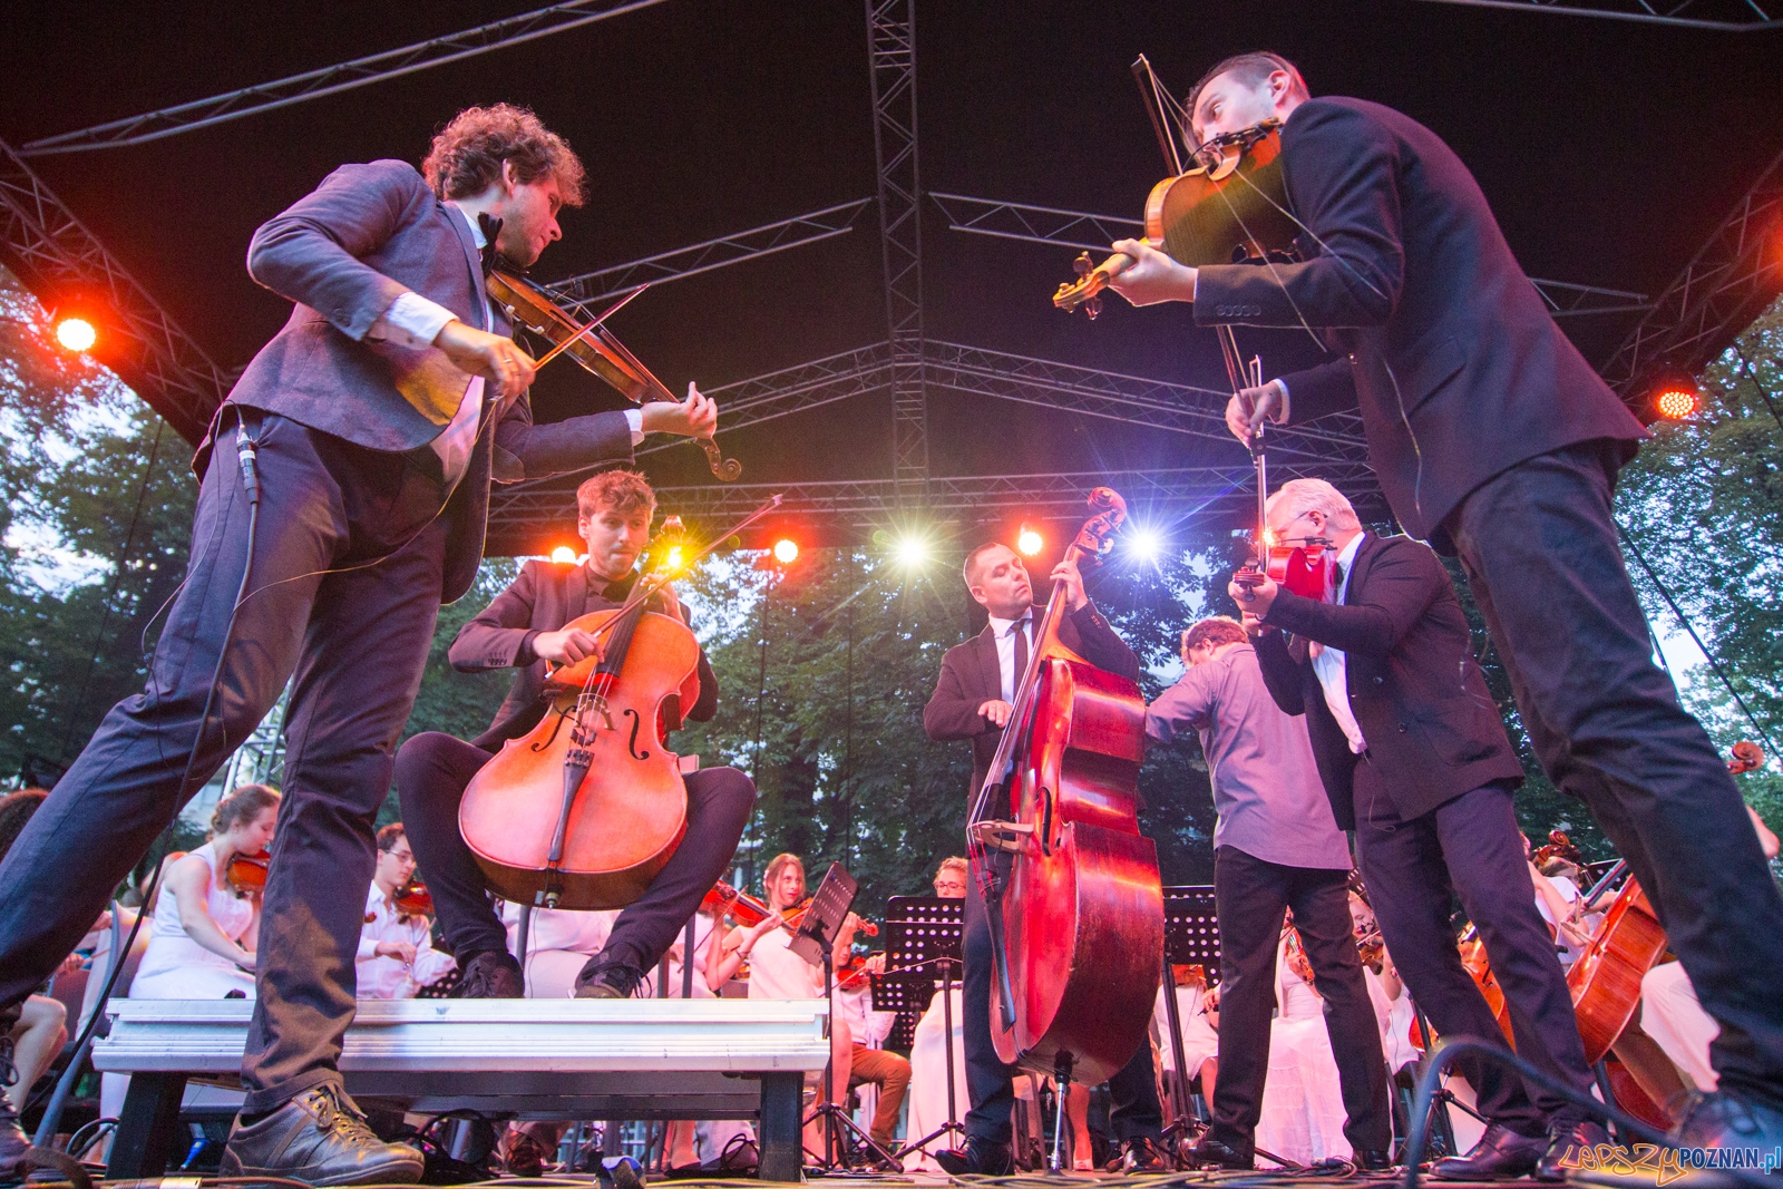
[[[781,504],[713,537],[692,565]],[[644,895],[686,832],[686,786],[667,747],[699,697],[699,642],[647,610],[670,574],[638,578],[624,606],[590,611],[599,651],[546,674],[544,717],[471,779],[458,832],[489,886],[535,907],[613,909]]]

